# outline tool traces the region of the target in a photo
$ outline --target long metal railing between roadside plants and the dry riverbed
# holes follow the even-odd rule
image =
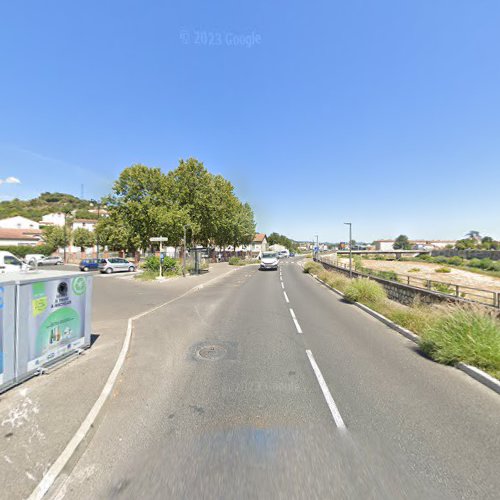
[[[319,260],[319,262],[324,262],[333,267],[338,267],[339,269],[349,269],[349,264],[343,262],[329,262],[327,260]],[[354,262],[352,263],[353,271],[356,271]],[[460,299],[469,300],[471,302],[477,302],[478,304],[496,307],[500,309],[500,292],[495,292],[493,290],[484,290],[482,288],[475,288],[466,285],[458,285],[456,283],[448,283],[444,281],[429,280],[427,278],[418,278],[417,276],[410,276],[408,274],[398,274],[393,271],[389,271],[392,276],[384,276],[382,274],[377,274],[377,271],[373,273],[366,272],[367,269],[363,268],[363,271],[356,271],[367,278],[379,278],[385,279],[387,281],[394,281],[401,285],[408,285],[414,288],[420,288],[422,290],[428,290],[431,292],[441,293],[443,295],[449,295],[450,297],[457,297]],[[396,278],[396,279],[394,279]]]

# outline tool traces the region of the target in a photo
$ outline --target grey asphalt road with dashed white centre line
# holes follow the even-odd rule
[[[52,497],[498,498],[498,395],[281,269],[139,320]]]

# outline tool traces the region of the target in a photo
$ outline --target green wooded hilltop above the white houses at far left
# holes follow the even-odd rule
[[[96,214],[88,211],[91,208],[90,203],[89,200],[82,200],[71,194],[42,193],[32,200],[15,198],[0,202],[0,219],[21,215],[38,222],[42,219],[42,215],[63,210],[76,211],[75,215],[79,218],[97,219]]]

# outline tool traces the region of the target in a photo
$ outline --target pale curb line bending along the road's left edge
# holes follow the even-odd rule
[[[213,281],[216,281],[224,276],[227,276],[228,274],[236,271],[236,269],[232,269],[229,272],[222,274],[221,276],[217,276],[209,281],[207,281],[204,285],[207,285]],[[64,469],[68,461],[71,459],[73,453],[75,450],[78,448],[80,443],[83,441],[85,436],[87,435],[89,429],[92,427],[93,423],[95,422],[95,419],[99,415],[99,412],[101,411],[102,407],[104,406],[104,403],[108,399],[109,395],[111,394],[111,391],[113,390],[113,387],[116,383],[116,379],[118,378],[118,375],[123,367],[123,363],[125,362],[125,358],[127,356],[128,349],[130,347],[130,340],[132,338],[132,323],[133,321],[136,321],[143,316],[146,316],[147,314],[150,314],[162,307],[165,307],[172,302],[175,302],[177,300],[182,299],[189,293],[193,291],[198,291],[204,286],[198,285],[194,288],[190,288],[187,292],[183,293],[182,295],[179,295],[178,297],[175,297],[174,299],[169,300],[168,302],[165,302],[163,304],[160,304],[158,306],[153,307],[152,309],[149,309],[147,311],[144,311],[140,314],[137,314],[136,316],[132,316],[131,318],[128,319],[128,324],[127,324],[127,333],[125,334],[125,340],[123,341],[122,349],[120,351],[120,354],[116,360],[115,366],[111,373],[109,374],[108,380],[106,381],[106,384],[104,385],[102,392],[97,399],[97,401],[94,403],[94,406],[92,406],[91,410],[85,417],[85,420],[82,422],[80,425],[79,429],[76,431],[75,435],[71,438],[70,442],[66,445],[66,448],[64,448],[63,452],[57,460],[51,465],[50,469],[47,471],[47,473],[43,476],[42,480],[38,483],[37,487],[33,490],[31,495],[28,497],[28,500],[41,500],[45,494],[49,491],[50,487],[54,484],[55,480],[61,473],[61,471]],[[69,479],[66,479],[66,481]]]

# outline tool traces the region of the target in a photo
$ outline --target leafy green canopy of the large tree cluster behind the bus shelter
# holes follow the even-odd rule
[[[239,245],[255,234],[253,211],[233,185],[213,175],[195,158],[180,160],[164,174],[136,164],[122,171],[106,199],[109,217],[96,227],[99,244],[113,249],[145,249],[152,236],[179,245],[184,229],[195,244]]]

